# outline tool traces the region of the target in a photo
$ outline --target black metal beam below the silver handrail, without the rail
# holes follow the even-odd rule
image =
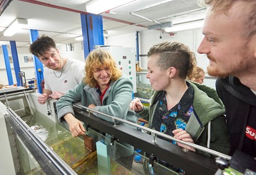
[[[182,147],[159,138],[157,138],[156,143],[153,143],[152,135],[124,126],[123,124],[114,126],[112,123],[92,114],[89,115],[89,112],[76,107],[74,107],[74,111],[75,117],[85,124],[89,124],[91,127],[112,135],[118,140],[124,141],[173,166],[179,167],[186,174],[205,175],[215,174],[217,171],[217,165],[213,158],[191,151],[183,152]]]

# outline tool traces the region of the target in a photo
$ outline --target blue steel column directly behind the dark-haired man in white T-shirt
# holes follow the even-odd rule
[[[30,29],[29,34],[30,43],[33,43],[36,39],[38,39],[38,30]],[[41,82],[43,80],[43,64],[35,55],[33,55],[33,60],[36,75],[36,84],[38,84],[38,92],[42,93]]]

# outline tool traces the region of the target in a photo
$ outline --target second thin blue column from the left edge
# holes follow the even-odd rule
[[[18,62],[18,53],[17,53],[17,48],[16,48],[16,42],[15,41],[10,41],[10,47],[11,47],[11,56],[13,57],[13,64],[14,64],[14,71],[15,71],[15,76],[17,80],[17,86],[21,86],[23,84],[22,79],[20,76],[18,76],[18,73],[21,71],[20,70],[20,64]]]

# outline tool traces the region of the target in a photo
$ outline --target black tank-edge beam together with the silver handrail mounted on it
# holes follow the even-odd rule
[[[215,174],[217,171],[217,165],[215,164],[215,160],[213,158],[192,151],[184,152],[182,147],[170,144],[170,142],[159,138],[157,139],[157,135],[183,143],[184,145],[188,145],[196,149],[200,149],[201,151],[216,155],[217,157],[230,160],[228,155],[218,153],[211,149],[192,143],[174,139],[172,136],[168,136],[138,124],[122,120],[121,118],[103,114],[102,112],[86,108],[80,104],[74,104],[73,106],[75,117],[86,124],[86,129],[88,127],[92,127],[101,130],[102,132],[111,135],[111,140],[122,140],[135,148],[139,148],[148,153],[153,161],[155,158],[159,158],[173,166],[181,168],[186,172],[186,174]],[[90,114],[90,111],[112,118],[113,123]],[[146,130],[147,132],[150,132],[151,135],[124,126],[123,124],[116,124],[117,122],[127,123],[131,126]],[[149,161],[151,158],[149,158]],[[151,162],[153,163],[153,161]]]

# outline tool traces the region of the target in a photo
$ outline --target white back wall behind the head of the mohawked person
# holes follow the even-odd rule
[[[160,34],[162,38],[160,39]],[[145,32],[139,33],[139,54],[146,55],[153,45],[163,42],[163,41],[179,41],[184,43],[188,46],[192,52],[196,54],[197,65],[202,67],[205,71],[205,85],[208,85],[215,89],[215,81],[216,79],[209,77],[207,74],[207,66],[209,64],[208,58],[205,54],[197,53],[197,48],[203,39],[202,29],[194,29],[194,30],[187,30],[184,32],[178,32],[172,36],[169,34],[160,33],[157,30],[146,30]],[[115,36],[115,37],[108,37],[105,40],[105,45],[110,46],[123,46],[123,47],[134,47],[136,48],[136,36],[135,33],[122,35],[122,36]],[[143,70],[147,69],[147,57],[140,57],[140,67]],[[147,83],[148,80],[145,78],[146,76],[141,76],[140,81],[141,83]]]

